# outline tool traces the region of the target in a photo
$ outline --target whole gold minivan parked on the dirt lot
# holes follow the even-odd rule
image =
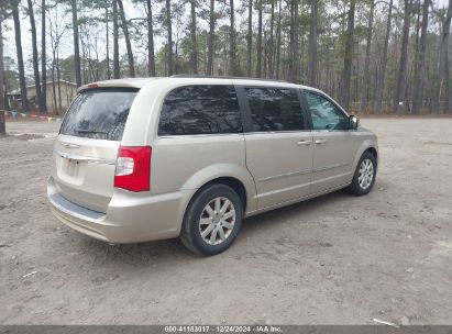
[[[54,146],[47,197],[65,224],[110,243],[180,236],[227,249],[242,221],[349,187],[371,191],[378,147],[322,91],[195,76],[84,86]]]

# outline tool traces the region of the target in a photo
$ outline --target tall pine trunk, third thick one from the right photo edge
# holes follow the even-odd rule
[[[398,113],[400,99],[405,97],[406,73],[407,73],[407,58],[408,58],[408,40],[409,40],[409,26],[411,21],[411,2],[412,0],[404,0],[404,27],[401,35],[401,48],[400,60],[397,73],[396,91],[394,94],[394,112]]]

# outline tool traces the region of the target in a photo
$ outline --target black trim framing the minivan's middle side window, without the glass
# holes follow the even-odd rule
[[[302,130],[282,130],[282,131],[253,131],[252,112],[250,108],[249,100],[246,98],[246,88],[263,88],[263,89],[286,89],[294,91],[298,97],[298,102],[300,104],[304,126]],[[309,112],[307,112],[306,105],[302,101],[299,89],[294,87],[285,87],[277,85],[235,85],[235,90],[239,97],[240,109],[243,109],[243,132],[245,134],[260,134],[260,133],[298,133],[298,132],[310,132],[310,118],[308,119]]]

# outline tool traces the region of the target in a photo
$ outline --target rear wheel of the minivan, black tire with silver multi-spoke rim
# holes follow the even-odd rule
[[[216,255],[231,246],[242,221],[243,203],[239,194],[229,186],[210,185],[190,201],[185,212],[180,240],[195,254]]]

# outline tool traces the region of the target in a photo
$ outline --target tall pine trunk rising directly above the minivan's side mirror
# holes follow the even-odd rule
[[[345,110],[348,110],[350,107],[350,81],[352,78],[355,5],[356,5],[356,0],[351,0],[349,15],[348,15],[348,23],[346,23],[346,32],[345,32],[345,53],[344,53],[344,68],[342,71],[342,94],[341,94],[342,107],[345,108]]]

